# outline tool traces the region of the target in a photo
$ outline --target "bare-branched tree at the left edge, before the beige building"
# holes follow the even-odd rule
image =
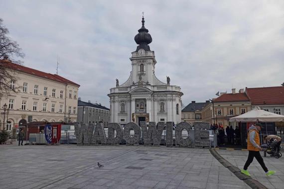
[[[17,77],[11,63],[22,64],[22,61],[14,58],[24,57],[21,48],[16,41],[7,36],[8,33],[9,30],[3,25],[3,20],[0,18],[0,97],[8,95],[11,91],[18,92],[18,87],[13,85]]]

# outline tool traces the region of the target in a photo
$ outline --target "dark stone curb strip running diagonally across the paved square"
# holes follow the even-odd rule
[[[249,185],[252,189],[268,189],[259,181],[242,174],[239,168],[233,166],[230,162],[225,160],[222,156],[218,154],[218,152],[216,152],[215,149],[211,148],[209,151],[212,154],[212,156],[214,156],[214,158],[218,160],[225,168],[228,168],[232,173],[234,173],[234,175],[236,175],[241,181]]]

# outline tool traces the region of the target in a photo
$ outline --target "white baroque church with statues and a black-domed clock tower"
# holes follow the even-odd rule
[[[110,89],[110,122],[125,125],[140,121],[172,121],[175,124],[181,122],[181,96],[179,86],[170,85],[170,78],[166,77],[166,83],[158,80],[155,71],[155,53],[150,50],[148,44],[152,37],[144,26],[134,40],[138,44],[136,51],[132,52],[132,71],[129,79],[119,84],[116,79],[116,87]]]

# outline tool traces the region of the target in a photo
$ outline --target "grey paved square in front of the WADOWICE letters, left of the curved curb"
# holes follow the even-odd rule
[[[97,162],[105,167],[97,168]],[[274,179],[276,178],[280,180],[280,177]],[[164,146],[0,145],[0,188],[245,189],[249,187],[224,168],[208,149]]]

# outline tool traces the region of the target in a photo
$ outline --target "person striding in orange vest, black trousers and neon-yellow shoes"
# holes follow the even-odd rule
[[[275,171],[268,171],[267,167],[264,164],[263,158],[260,155],[260,151],[262,148],[260,147],[260,135],[259,131],[262,129],[260,123],[256,123],[249,128],[248,133],[248,151],[249,157],[247,162],[245,163],[244,169],[241,172],[247,176],[251,176],[250,173],[247,171],[250,164],[253,162],[254,157],[257,159],[259,164],[261,165],[262,169],[265,171],[266,176],[272,176],[275,174]]]

